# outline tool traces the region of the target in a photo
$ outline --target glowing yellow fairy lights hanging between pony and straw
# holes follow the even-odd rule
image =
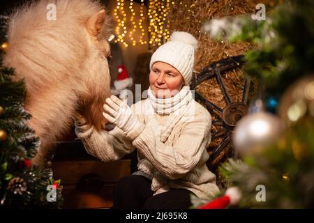
[[[129,45],[136,46],[138,44],[144,45],[147,44],[147,41],[151,47],[160,46],[165,43],[170,38],[170,26],[167,21],[167,16],[170,13],[171,6],[185,6],[186,10],[194,15],[194,11],[190,9],[191,6],[181,1],[150,0],[147,10],[147,35],[144,29],[144,22],[146,22],[144,0],[141,0],[140,3],[140,17],[136,16],[133,1],[134,0],[117,0],[117,5],[114,9],[114,17],[117,19],[115,29],[117,38],[114,40],[114,43],[120,42],[125,47]],[[138,18],[138,21],[135,21],[135,18]],[[138,33],[140,33],[140,38],[137,37]]]

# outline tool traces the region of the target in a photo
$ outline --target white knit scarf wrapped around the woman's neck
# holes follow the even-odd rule
[[[193,95],[190,92],[190,86],[184,85],[176,95],[165,99],[156,98],[151,91],[151,87],[149,87],[148,98],[150,102],[149,104],[157,114],[169,115],[167,123],[163,126],[160,132],[160,141],[164,143],[171,134],[174,126],[192,107]]]

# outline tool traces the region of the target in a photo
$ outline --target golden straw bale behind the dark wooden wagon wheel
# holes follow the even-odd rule
[[[199,49],[195,58],[195,75],[209,63],[227,58],[228,56],[244,54],[248,49],[251,49],[251,43],[215,41],[211,40],[207,33],[202,33],[201,31],[203,22],[209,21],[212,18],[253,13],[255,4],[251,1],[185,0],[180,2],[176,1],[170,7],[168,15],[169,29],[171,31],[187,31],[193,34],[199,41]],[[223,81],[227,89],[229,89],[232,100],[239,101],[244,86],[242,70],[237,69],[227,72],[223,75]],[[203,82],[197,87],[196,91],[221,108],[227,105],[216,79]]]

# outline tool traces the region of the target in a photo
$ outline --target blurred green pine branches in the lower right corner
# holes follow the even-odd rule
[[[229,160],[219,167],[230,185],[243,193],[241,208],[313,208],[314,121],[304,118],[284,137],[244,161]],[[257,185],[266,188],[266,201],[256,200]]]

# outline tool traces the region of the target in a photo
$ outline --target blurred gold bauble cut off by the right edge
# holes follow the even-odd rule
[[[304,116],[314,117],[314,75],[299,79],[285,91],[278,114],[287,124],[296,123]]]

